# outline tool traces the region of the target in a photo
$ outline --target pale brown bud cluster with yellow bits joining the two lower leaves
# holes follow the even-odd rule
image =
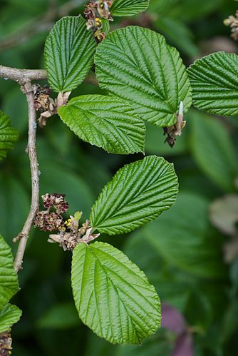
[[[77,212],[70,219],[66,220],[58,230],[57,235],[50,235],[48,242],[58,243],[63,250],[73,250],[78,243],[89,243],[95,240],[100,235],[93,234],[93,228],[90,227],[90,221],[86,220],[81,227],[79,227],[79,219],[82,213]]]

